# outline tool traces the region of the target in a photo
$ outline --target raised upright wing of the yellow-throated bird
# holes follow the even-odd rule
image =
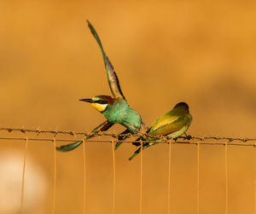
[[[108,84],[109,84],[110,90],[113,94],[113,98],[125,99],[125,96],[123,95],[123,92],[120,88],[119,78],[117,77],[116,73],[114,72],[113,66],[112,66],[111,62],[108,60],[108,56],[105,54],[105,51],[102,46],[102,42],[101,42],[96,30],[90,24],[90,21],[87,20],[87,22],[88,22],[88,26],[90,28],[90,32],[96,39],[96,42],[98,43],[98,45],[100,46],[100,49],[102,51],[103,61],[104,61],[105,67],[106,67],[107,75],[108,75]]]

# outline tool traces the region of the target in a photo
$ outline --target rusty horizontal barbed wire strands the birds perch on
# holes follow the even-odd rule
[[[8,131],[10,133],[13,132],[21,132],[23,134],[26,133],[35,133],[37,135],[40,134],[51,134],[54,136],[54,138],[49,137],[1,137],[0,140],[30,140],[30,141],[46,141],[46,142],[53,142],[54,139],[56,142],[78,142],[83,141],[83,139],[86,136],[112,136],[115,138],[115,140],[105,140],[105,139],[97,139],[92,140],[88,139],[87,142],[120,142],[118,140],[119,136],[143,136],[144,138],[152,137],[148,136],[146,133],[138,133],[137,135],[131,135],[129,134],[115,134],[115,133],[108,133],[108,132],[96,132],[96,133],[90,133],[85,131],[73,131],[73,130],[40,130],[39,128],[37,130],[29,130],[29,129],[23,129],[23,128],[0,128],[0,131]],[[67,136],[74,136],[73,139],[62,139],[62,138],[55,138],[57,135],[67,135]],[[77,138],[77,136],[83,136],[84,138]],[[157,142],[157,143],[170,143],[171,138],[168,138],[166,136],[157,136],[158,139],[154,141],[143,141],[143,142]],[[155,138],[155,136],[154,136]],[[212,141],[214,142],[212,142]],[[208,141],[208,142],[207,142]],[[210,141],[210,142],[209,142]],[[222,142],[221,142],[222,141]],[[122,141],[123,142],[123,141]],[[134,140],[126,140],[127,143],[132,142],[140,142],[140,141],[134,141]],[[201,144],[208,144],[208,145],[225,145],[226,143],[228,145],[234,145],[234,146],[253,146],[256,147],[256,138],[241,138],[241,137],[228,137],[228,136],[179,136],[177,140],[172,140],[171,143],[183,143],[183,144],[197,144],[200,142]]]

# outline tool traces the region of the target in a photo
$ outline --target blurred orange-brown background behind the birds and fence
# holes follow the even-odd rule
[[[104,121],[78,101],[110,95],[90,20],[146,124],[186,101],[190,135],[256,137],[255,11],[253,1],[1,1],[0,126],[90,131]],[[0,147],[0,213],[20,213],[24,142]],[[115,213],[139,212],[134,150],[116,151]],[[200,212],[224,213],[224,146],[201,146],[200,154]],[[254,213],[255,154],[228,147],[230,214]],[[143,158],[143,213],[167,213],[168,146]],[[196,158],[195,146],[172,146],[172,213],[196,211]],[[26,213],[51,212],[53,174],[53,144],[29,142]],[[83,179],[82,147],[57,153],[55,213],[82,213]],[[112,213],[110,144],[87,143],[86,184],[86,213]]]

